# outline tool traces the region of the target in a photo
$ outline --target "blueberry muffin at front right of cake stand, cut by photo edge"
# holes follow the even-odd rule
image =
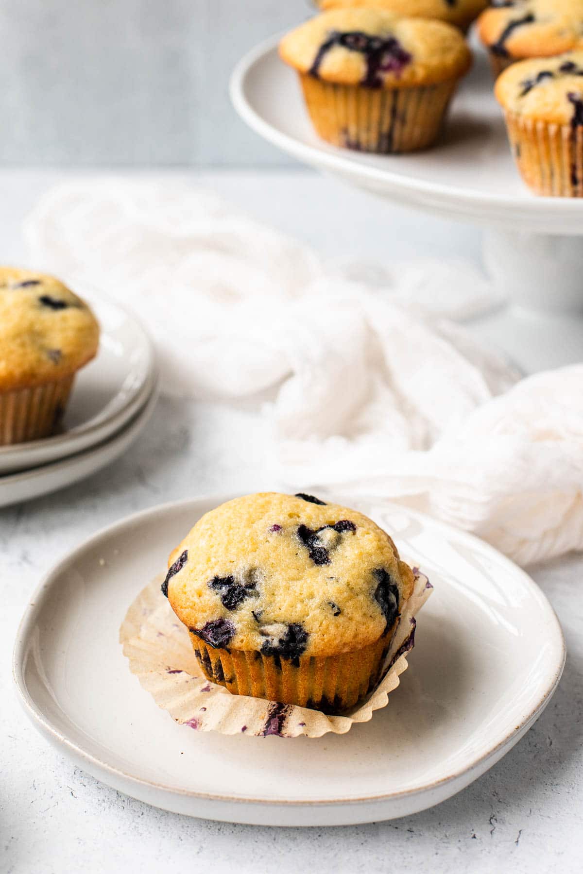
[[[537,194],[583,197],[583,52],[513,64],[495,94],[524,182]]]

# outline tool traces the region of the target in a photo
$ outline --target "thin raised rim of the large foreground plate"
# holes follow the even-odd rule
[[[426,513],[421,513],[418,510],[411,510],[410,508],[399,505],[398,503],[384,501],[384,506],[386,506],[389,510],[398,510],[400,512],[404,511],[413,518],[417,518],[425,522],[427,522],[428,520],[430,524],[436,525],[438,526],[438,528],[445,531],[455,531],[457,535],[459,535],[466,542],[469,542],[470,545],[477,542],[482,550],[494,553],[498,560],[502,558],[503,563],[509,565],[512,572],[518,572],[524,577],[524,581],[526,582],[527,586],[534,587],[534,589],[538,593],[538,596],[543,600],[543,604],[546,607],[549,619],[554,624],[554,631],[557,635],[557,643],[559,644],[559,649],[557,652],[558,658],[556,660],[555,666],[552,669],[552,676],[549,676],[547,683],[545,683],[545,692],[538,701],[538,704],[535,705],[535,707],[528,713],[527,716],[525,716],[521,720],[518,725],[515,726],[515,728],[513,728],[510,732],[507,732],[503,739],[499,740],[496,743],[496,746],[491,747],[486,753],[483,753],[477,759],[472,761],[471,764],[469,764],[468,766],[457,769],[454,772],[449,773],[447,776],[441,777],[439,780],[434,780],[433,782],[422,787],[414,787],[412,789],[405,789],[399,792],[390,792],[374,795],[360,795],[357,797],[348,798],[315,798],[309,800],[290,800],[257,797],[253,798],[233,794],[199,792],[197,790],[185,789],[182,787],[168,786],[154,780],[145,780],[142,777],[136,777],[135,774],[126,773],[125,771],[121,770],[121,768],[113,766],[107,761],[101,760],[73,740],[67,738],[66,735],[61,732],[56,725],[52,724],[51,719],[47,718],[45,714],[40,710],[38,704],[36,704],[31,694],[27,690],[26,684],[24,682],[24,656],[26,655],[26,647],[31,634],[33,623],[38,613],[40,612],[43,600],[46,597],[46,593],[50,591],[52,586],[56,585],[56,580],[59,578],[59,575],[63,572],[66,565],[70,565],[76,558],[80,556],[80,554],[82,554],[84,551],[87,551],[88,549],[94,548],[96,545],[99,545],[99,543],[104,538],[108,538],[108,536],[110,536],[111,534],[119,534],[121,531],[124,531],[129,527],[135,526],[135,524],[139,524],[147,517],[156,517],[160,513],[181,510],[183,508],[186,508],[187,506],[192,506],[196,504],[213,503],[214,506],[219,506],[219,503],[225,503],[225,501],[233,500],[233,497],[237,497],[239,495],[240,493],[229,493],[226,495],[210,494],[198,496],[195,498],[185,498],[178,501],[164,502],[161,504],[156,504],[156,506],[154,507],[148,507],[144,510],[138,510],[137,512],[132,513],[129,516],[124,517],[113,524],[102,527],[99,531],[96,531],[90,537],[85,538],[83,541],[81,541],[80,544],[73,547],[72,550],[69,550],[68,552],[66,552],[65,555],[59,558],[59,560],[54,565],[52,565],[52,568],[45,573],[43,578],[38,583],[38,586],[36,586],[33,593],[31,593],[28,603],[24,608],[24,614],[22,616],[22,619],[18,625],[17,636],[12,650],[12,678],[16,685],[18,700],[21,706],[24,708],[26,715],[31,719],[33,725],[35,725],[35,727],[41,733],[45,734],[45,736],[48,736],[53,743],[57,744],[58,746],[65,747],[67,753],[72,753],[76,755],[78,758],[80,758],[80,760],[88,762],[94,767],[100,769],[103,772],[111,774],[117,779],[121,778],[122,780],[129,781],[130,783],[133,783],[140,787],[144,787],[147,790],[153,789],[156,791],[161,791],[164,794],[179,795],[181,797],[191,798],[197,801],[219,801],[227,804],[250,804],[253,806],[259,805],[285,808],[342,807],[352,804],[382,804],[383,802],[399,801],[399,799],[402,798],[411,798],[417,795],[430,793],[432,791],[435,791],[436,789],[439,789],[440,787],[446,786],[448,783],[455,783],[455,780],[462,779],[464,775],[471,774],[475,772],[476,769],[479,770],[482,765],[486,764],[490,759],[496,760],[496,754],[501,753],[505,746],[514,746],[514,743],[516,743],[517,740],[519,740],[524,735],[524,733],[528,731],[528,729],[536,721],[538,716],[540,716],[540,714],[545,710],[546,704],[549,703],[552,695],[559,685],[559,681],[565,667],[566,642],[565,635],[563,634],[563,629],[561,628],[559,622],[559,618],[555,613],[551,602],[548,600],[540,586],[538,586],[538,584],[533,579],[531,579],[531,577],[521,567],[512,562],[510,558],[507,558],[505,555],[503,555],[502,552],[496,550],[494,546],[491,546],[482,539],[475,537],[475,535],[468,533],[468,531],[462,531],[462,529],[455,528],[455,526],[453,525],[442,522],[441,519],[434,519],[433,517],[429,517]],[[357,500],[365,501],[366,496],[359,496]],[[371,500],[378,501],[379,499],[371,498]],[[494,763],[495,762],[492,762],[492,764]],[[481,773],[484,773],[484,771],[486,770],[488,770],[488,768],[484,767]],[[469,780],[468,782],[471,782],[471,780]],[[468,783],[464,785],[468,785]]]

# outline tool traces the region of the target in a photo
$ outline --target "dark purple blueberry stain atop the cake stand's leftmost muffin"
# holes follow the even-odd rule
[[[335,45],[341,45],[350,52],[364,55],[366,73],[361,85],[365,88],[383,87],[383,78],[380,73],[394,73],[395,76],[399,77],[407,64],[413,60],[413,56],[395,37],[371,37],[362,31],[346,33],[333,31],[318,49],[314,63],[309,69],[310,76],[319,78],[323,59]]]

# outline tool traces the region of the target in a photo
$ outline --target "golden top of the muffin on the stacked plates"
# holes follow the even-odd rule
[[[94,357],[99,325],[53,276],[0,267],[0,391],[66,378]]]

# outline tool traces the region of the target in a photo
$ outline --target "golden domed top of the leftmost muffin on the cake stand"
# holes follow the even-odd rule
[[[471,64],[450,24],[367,7],[312,18],[281,40],[280,55],[316,79],[370,88],[431,85],[462,76]]]

